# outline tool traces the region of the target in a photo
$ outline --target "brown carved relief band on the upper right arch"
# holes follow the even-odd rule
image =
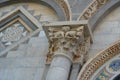
[[[93,14],[95,14],[98,9],[100,9],[109,0],[94,0],[88,5],[88,7],[81,13],[78,20],[89,20]]]

